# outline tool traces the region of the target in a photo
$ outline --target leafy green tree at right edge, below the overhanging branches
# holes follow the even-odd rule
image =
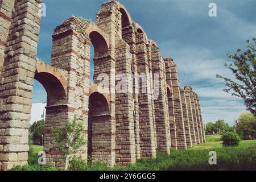
[[[256,117],[251,113],[242,113],[238,118],[236,131],[243,139],[255,139]]]

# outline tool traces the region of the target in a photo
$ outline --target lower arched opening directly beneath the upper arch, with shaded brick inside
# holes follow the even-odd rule
[[[101,161],[108,163],[109,150],[111,150],[111,116],[108,101],[103,94],[94,92],[89,97],[88,117],[88,159],[92,163]],[[88,160],[89,162],[89,160]]]

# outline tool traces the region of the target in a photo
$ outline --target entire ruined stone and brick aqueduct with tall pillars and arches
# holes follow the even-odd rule
[[[75,115],[88,140],[80,155],[91,156],[92,163],[127,165],[155,158],[156,151],[170,154],[170,148],[205,142],[199,97],[190,86],[180,88],[174,60],[160,55],[121,3],[104,3],[96,23],[72,16],[57,26],[47,65],[36,59],[40,2],[0,1],[0,170],[27,164],[34,79],[48,95],[47,164],[64,168],[51,129]],[[144,80],[137,79],[143,74]],[[122,90],[115,90],[123,78]]]

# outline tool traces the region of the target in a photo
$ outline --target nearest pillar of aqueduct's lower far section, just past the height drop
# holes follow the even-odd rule
[[[186,135],[187,147],[192,147],[191,131],[189,126],[189,117],[188,117],[188,104],[185,97],[185,91],[180,89],[182,109],[183,109],[183,119],[184,119],[184,129]]]

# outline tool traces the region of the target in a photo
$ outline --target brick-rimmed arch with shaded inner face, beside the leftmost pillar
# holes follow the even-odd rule
[[[68,119],[68,111],[72,110],[67,105],[68,83],[60,69],[51,67],[39,60],[37,62],[35,80],[38,80],[47,92],[46,129],[43,136],[44,152],[46,152],[46,160],[59,161],[65,156],[53,149],[58,146],[52,138],[51,130],[52,127],[64,127]],[[59,156],[56,156],[57,154]]]

